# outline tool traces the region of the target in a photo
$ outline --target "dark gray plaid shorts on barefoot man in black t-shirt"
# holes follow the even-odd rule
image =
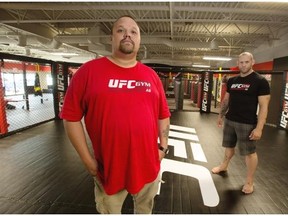
[[[255,140],[250,140],[249,135],[256,125],[243,124],[225,119],[222,146],[234,148],[238,143],[241,155],[253,154],[256,151]]]

